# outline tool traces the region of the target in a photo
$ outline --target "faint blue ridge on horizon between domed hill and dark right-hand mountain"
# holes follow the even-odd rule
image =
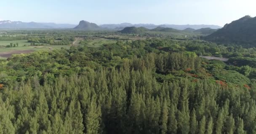
[[[116,27],[144,27],[147,29],[154,29],[157,27],[163,27],[163,28],[174,28],[177,30],[184,30],[186,28],[193,28],[193,29],[200,29],[200,28],[212,28],[212,29],[219,29],[220,26],[216,25],[169,25],[169,24],[163,24],[163,25],[155,25],[155,24],[131,24],[131,23],[121,23],[121,24],[104,24],[100,25],[102,28],[108,28],[108,29],[115,29]]]

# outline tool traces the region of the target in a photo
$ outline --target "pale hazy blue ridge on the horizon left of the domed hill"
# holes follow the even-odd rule
[[[73,28],[72,24],[36,23],[21,21],[0,21],[1,29],[50,29],[50,28]]]

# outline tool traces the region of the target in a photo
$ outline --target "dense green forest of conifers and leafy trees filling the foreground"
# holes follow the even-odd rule
[[[26,38],[31,43],[74,41],[74,35],[41,34]],[[117,37],[103,36],[115,43],[89,47],[90,33],[70,49],[0,59],[0,132],[256,133],[255,48]]]

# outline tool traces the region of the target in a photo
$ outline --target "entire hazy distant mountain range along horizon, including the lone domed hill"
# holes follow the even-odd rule
[[[131,24],[131,23],[121,23],[121,24],[104,24],[96,25],[95,23],[90,23],[88,21],[80,21],[80,24],[57,24],[57,23],[37,23],[37,22],[21,22],[21,21],[0,21],[1,29],[51,29],[51,28],[75,28],[81,30],[122,30],[125,27],[144,27],[147,29],[154,29],[157,27],[163,28],[174,28],[177,30],[184,30],[186,28],[193,28],[195,30],[200,28],[212,28],[218,29],[220,26],[216,25],[155,25],[155,24]]]

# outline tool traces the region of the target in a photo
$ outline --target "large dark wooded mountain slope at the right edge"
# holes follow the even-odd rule
[[[256,17],[244,16],[226,24],[223,28],[204,38],[219,43],[250,44],[256,46]]]

